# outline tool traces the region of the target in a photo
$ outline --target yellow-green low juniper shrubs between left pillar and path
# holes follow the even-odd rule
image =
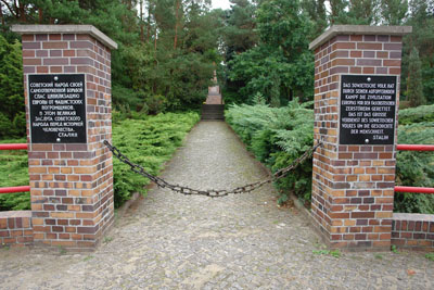
[[[138,116],[136,116],[138,117]],[[113,126],[113,144],[130,161],[153,175],[171,157],[183,138],[197,123],[197,113],[165,113],[140,119],[125,119]],[[149,179],[130,171],[114,159],[115,206],[127,201],[133,192],[145,193]]]

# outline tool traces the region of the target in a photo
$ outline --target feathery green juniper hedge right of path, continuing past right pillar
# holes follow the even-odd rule
[[[288,166],[312,146],[314,112],[297,100],[285,108],[264,104],[232,105],[226,119],[247,149],[272,172]],[[398,143],[434,143],[434,105],[406,109],[399,112]],[[407,124],[407,125],[403,125]],[[434,187],[434,153],[399,151],[396,182],[405,186]],[[311,160],[302,164],[276,185],[279,202],[293,191],[305,202],[310,201]],[[434,194],[396,193],[395,212],[434,214]]]

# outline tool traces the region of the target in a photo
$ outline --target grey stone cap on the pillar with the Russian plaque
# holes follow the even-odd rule
[[[12,25],[12,31],[21,35],[40,34],[87,34],[104,43],[110,49],[117,49],[117,43],[101,33],[93,25]]]

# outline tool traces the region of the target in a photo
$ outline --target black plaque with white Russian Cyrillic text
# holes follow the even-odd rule
[[[33,143],[86,143],[85,74],[29,75]]]

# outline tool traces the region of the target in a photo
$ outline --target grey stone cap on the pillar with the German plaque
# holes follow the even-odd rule
[[[407,35],[412,31],[411,26],[370,26],[370,25],[333,25],[322,35],[309,43],[314,50],[335,37],[336,35]]]

